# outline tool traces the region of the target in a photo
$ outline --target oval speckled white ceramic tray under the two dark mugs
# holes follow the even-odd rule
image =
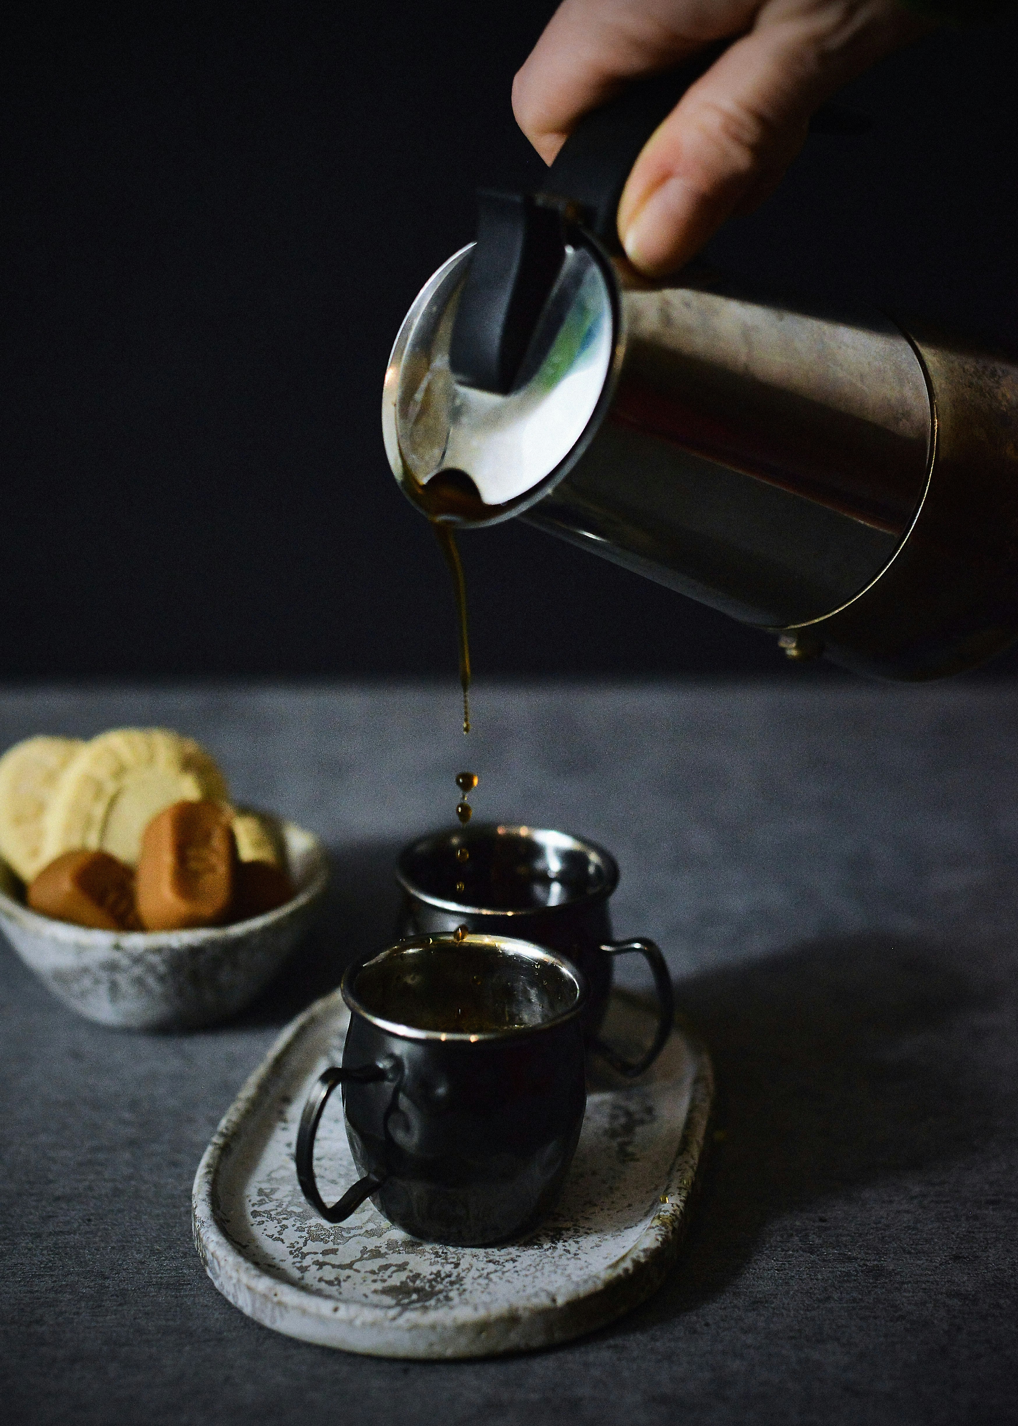
[[[241,1089],[194,1181],[194,1241],[220,1292],[277,1332],[372,1356],[463,1358],[565,1342],[647,1298],[672,1265],[710,1112],[710,1060],[676,1028],[636,1082],[592,1085],[553,1215],[522,1242],[442,1248],[394,1228],[371,1202],[324,1222],[301,1196],[297,1122],[339,1064],[339,992],[298,1015]],[[649,1007],[615,992],[606,1034],[646,1041]],[[318,1132],[327,1201],[358,1176],[336,1094]]]

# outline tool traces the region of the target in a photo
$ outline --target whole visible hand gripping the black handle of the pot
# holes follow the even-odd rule
[[[627,80],[736,37],[647,140],[622,194],[622,245],[662,275],[774,191],[837,88],[930,27],[898,0],[563,0],[513,81],[513,113],[550,164]]]

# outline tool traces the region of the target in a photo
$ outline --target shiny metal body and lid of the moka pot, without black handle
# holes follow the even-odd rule
[[[519,515],[778,635],[791,657],[883,677],[954,673],[1018,635],[1018,365],[706,268],[649,282],[585,230],[569,237],[559,284],[593,261],[606,294],[596,404],[550,471],[506,501],[482,491],[455,523]],[[452,379],[442,344],[469,254],[425,287],[386,376],[389,459],[429,513],[426,472],[401,446],[401,364],[423,318],[432,375]],[[485,441],[482,422],[461,448]]]

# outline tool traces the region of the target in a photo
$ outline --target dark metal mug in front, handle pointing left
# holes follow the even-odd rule
[[[342,1068],[308,1097],[297,1175],[339,1224],[372,1198],[415,1238],[505,1242],[550,1209],[586,1109],[587,988],[563,957],[505,937],[418,937],[352,965]],[[328,1206],[314,1171],[325,1104],[342,1085],[362,1178]]]

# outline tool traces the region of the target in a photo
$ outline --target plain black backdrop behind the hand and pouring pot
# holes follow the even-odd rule
[[[509,88],[552,9],[7,11],[4,677],[453,672],[382,374],[473,188],[540,173]],[[873,130],[811,138],[711,258],[1018,349],[1017,40],[885,61],[844,96]],[[784,673],[773,640],[523,525],[463,545],[480,674]]]

